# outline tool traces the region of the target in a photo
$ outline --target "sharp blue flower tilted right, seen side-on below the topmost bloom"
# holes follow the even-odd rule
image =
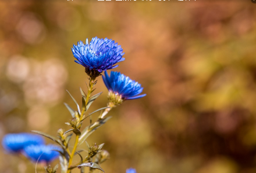
[[[112,71],[110,76],[105,72],[105,77],[102,76],[102,78],[108,90],[116,95],[120,95],[123,100],[141,98],[146,95],[138,95],[143,91],[143,87],[135,80],[131,80],[120,72]]]

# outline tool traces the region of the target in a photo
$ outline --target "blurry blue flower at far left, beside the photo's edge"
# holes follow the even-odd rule
[[[44,144],[44,138],[29,133],[7,134],[2,139],[3,148],[10,153],[20,152],[29,145],[41,144]]]

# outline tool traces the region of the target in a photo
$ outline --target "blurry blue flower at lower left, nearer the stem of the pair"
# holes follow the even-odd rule
[[[30,145],[24,148],[24,155],[32,161],[50,162],[59,156],[61,148],[55,145]]]

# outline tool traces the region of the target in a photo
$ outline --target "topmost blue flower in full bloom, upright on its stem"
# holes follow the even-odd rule
[[[81,41],[77,42],[77,46],[73,45],[72,52],[77,59],[75,62],[83,65],[86,69],[90,69],[90,71],[95,70],[100,73],[118,67],[115,64],[125,60],[122,58],[125,53],[123,53],[121,46],[107,38],[95,37],[91,39],[90,44],[86,39],[86,45]]]

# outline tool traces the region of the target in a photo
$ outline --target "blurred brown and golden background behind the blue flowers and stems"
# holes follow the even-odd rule
[[[13,132],[68,130],[63,102],[75,105],[65,90],[80,100],[87,82],[70,48],[107,37],[125,52],[115,71],[141,83],[147,96],[113,109],[88,138],[111,154],[101,165],[105,172],[256,172],[255,7],[250,1],[1,1],[0,140]],[[91,112],[107,102],[101,78],[99,91]],[[35,171],[1,146],[0,172]]]

